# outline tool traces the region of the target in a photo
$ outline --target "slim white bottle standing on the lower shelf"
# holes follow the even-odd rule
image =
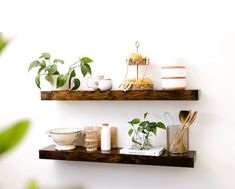
[[[109,124],[104,123],[101,129],[101,150],[111,150],[111,135]]]

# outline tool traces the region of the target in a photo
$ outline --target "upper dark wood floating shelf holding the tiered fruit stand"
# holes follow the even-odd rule
[[[199,100],[199,90],[41,91],[42,100]]]

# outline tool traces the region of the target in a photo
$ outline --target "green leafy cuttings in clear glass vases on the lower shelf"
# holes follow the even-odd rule
[[[143,121],[141,121],[139,118],[135,118],[128,122],[132,126],[132,128],[129,129],[128,131],[128,135],[132,136],[132,142],[141,146],[141,149],[152,147],[149,137],[152,133],[156,136],[157,128],[166,129],[166,126],[162,122],[151,122],[146,120],[147,116],[148,113],[146,112],[144,114]],[[141,136],[142,140],[141,141],[136,140],[135,136]]]

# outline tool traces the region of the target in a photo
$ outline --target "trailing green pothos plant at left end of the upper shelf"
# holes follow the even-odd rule
[[[38,68],[37,75],[35,77],[35,83],[38,88],[41,89],[41,77],[44,77],[48,82],[52,83],[52,77],[57,76],[56,88],[60,88],[69,82],[69,89],[76,90],[80,87],[80,80],[76,77],[76,68],[80,67],[82,75],[85,77],[87,74],[91,74],[90,63],[93,62],[88,57],[79,58],[77,62],[72,64],[67,73],[61,74],[58,70],[58,64],[64,64],[64,60],[54,59],[51,60],[50,53],[42,53],[42,55],[34,60],[30,65],[28,71],[32,68]]]

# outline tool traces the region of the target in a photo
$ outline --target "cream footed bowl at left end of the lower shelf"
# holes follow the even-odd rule
[[[57,128],[47,132],[49,137],[56,143],[56,150],[72,150],[75,149],[75,141],[81,134],[81,129],[68,129],[68,128]]]

